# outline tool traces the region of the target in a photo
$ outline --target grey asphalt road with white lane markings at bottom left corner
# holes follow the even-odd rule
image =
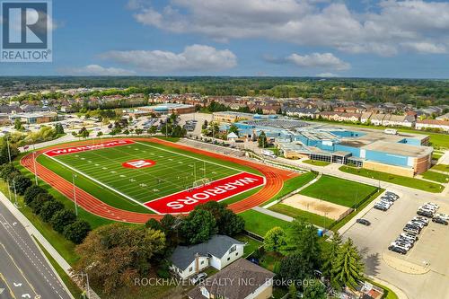
[[[70,299],[22,224],[0,202],[0,299]]]

